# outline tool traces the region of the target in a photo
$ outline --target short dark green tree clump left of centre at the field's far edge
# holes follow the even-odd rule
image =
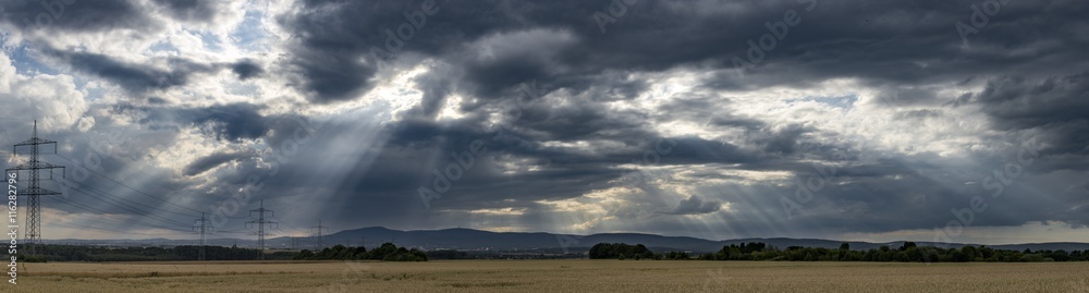
[[[293,258],[295,260],[384,260],[384,261],[427,261],[427,254],[416,248],[397,247],[393,243],[384,243],[377,248],[367,251],[363,246],[348,247],[337,245],[322,248],[320,252],[303,249]]]

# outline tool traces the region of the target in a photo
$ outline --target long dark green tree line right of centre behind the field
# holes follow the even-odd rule
[[[639,248],[641,247],[641,248]],[[878,248],[853,251],[844,243],[839,249],[821,247],[790,246],[779,249],[761,242],[749,242],[722,246],[722,249],[689,256],[684,252],[656,254],[643,244],[635,246],[624,243],[599,243],[589,252],[591,259],[701,259],[701,260],[782,260],[782,261],[900,261],[900,263],[1020,263],[1020,261],[1086,261],[1089,251],[1011,251],[995,249],[986,245],[965,245],[960,248],[918,246],[905,242],[897,248],[882,245]]]

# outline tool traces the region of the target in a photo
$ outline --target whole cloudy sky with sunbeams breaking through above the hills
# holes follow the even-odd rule
[[[45,239],[192,239],[201,213],[245,237],[264,205],[296,236],[320,220],[1089,242],[1085,1],[0,0],[0,144],[37,120],[58,142],[42,160],[66,167],[42,183],[63,193],[42,198]],[[0,148],[5,168],[25,152]]]

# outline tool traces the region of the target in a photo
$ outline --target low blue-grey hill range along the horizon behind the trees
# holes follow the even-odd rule
[[[317,237],[296,237],[295,247],[313,247],[317,245]],[[641,233],[603,233],[592,235],[567,235],[552,233],[524,233],[524,232],[489,232],[473,229],[443,229],[443,230],[414,230],[400,231],[382,227],[369,227],[354,230],[344,230],[329,235],[325,235],[321,242],[326,246],[344,244],[358,246],[366,244],[374,247],[381,243],[393,242],[401,246],[420,247],[424,249],[461,249],[461,251],[534,251],[549,248],[566,248],[573,253],[582,253],[598,243],[628,243],[643,244],[654,252],[664,251],[686,251],[693,253],[717,252],[730,244],[741,244],[748,242],[763,242],[779,248],[788,246],[824,247],[837,248],[843,241],[820,240],[820,239],[736,239],[724,241],[711,241],[697,237],[685,236],[662,236]],[[81,245],[125,245],[125,246],[156,246],[156,245],[194,245],[197,241],[192,240],[51,240],[47,243],[68,243]],[[254,239],[212,239],[207,242],[209,245],[231,246],[237,244],[243,247],[256,246]],[[903,245],[903,241],[889,243],[870,242],[847,242],[852,249],[877,248],[882,245],[896,248]],[[916,242],[918,245],[934,245],[940,247],[962,247],[969,244],[964,243],[931,243]],[[979,246],[978,244],[970,244]],[[267,247],[286,248],[292,246],[290,237],[271,237],[266,240]],[[1055,242],[1055,243],[1028,243],[988,245],[1000,249],[1024,251],[1029,248],[1039,249],[1065,249],[1086,251],[1089,243]]]

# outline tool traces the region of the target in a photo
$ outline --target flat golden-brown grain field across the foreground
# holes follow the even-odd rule
[[[1089,263],[50,263],[25,264],[20,277],[0,291],[1089,292]]]

